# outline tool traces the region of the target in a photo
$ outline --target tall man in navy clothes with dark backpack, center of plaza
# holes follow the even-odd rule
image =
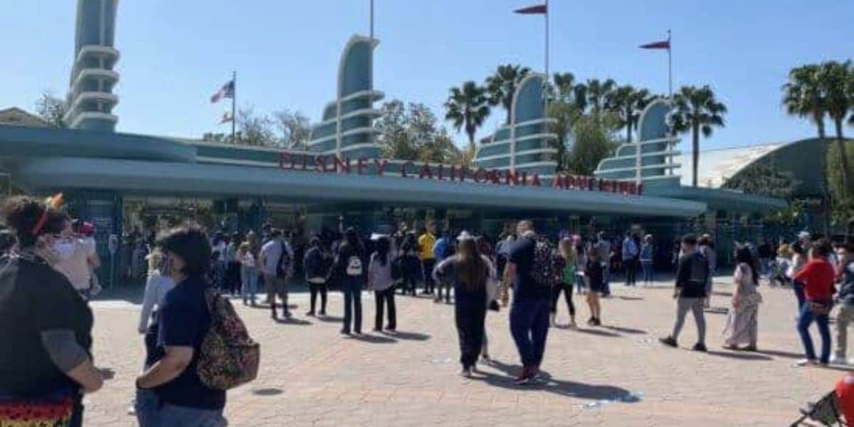
[[[522,359],[522,373],[516,383],[527,384],[540,373],[546,351],[549,310],[552,301],[552,246],[537,237],[529,220],[517,225],[518,240],[510,247],[505,281],[513,284],[510,331]]]

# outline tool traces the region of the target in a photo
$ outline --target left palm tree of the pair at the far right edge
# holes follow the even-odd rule
[[[824,115],[827,109],[818,82],[817,65],[804,65],[789,71],[789,81],[783,85],[783,105],[788,114],[809,117],[818,128],[818,137],[824,139]]]

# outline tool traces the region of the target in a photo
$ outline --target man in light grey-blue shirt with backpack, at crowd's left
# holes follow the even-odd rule
[[[265,243],[260,253],[260,269],[264,276],[267,299],[270,301],[272,319],[278,319],[276,313],[276,295],[282,300],[282,314],[290,319],[288,307],[288,278],[292,270],[294,253],[290,245],[282,239],[282,231],[272,230],[270,241]]]

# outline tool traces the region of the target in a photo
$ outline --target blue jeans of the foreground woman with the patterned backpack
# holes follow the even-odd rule
[[[184,427],[224,427],[228,425],[222,410],[176,407],[163,403],[154,391],[137,390],[137,421],[139,427],[180,425]]]

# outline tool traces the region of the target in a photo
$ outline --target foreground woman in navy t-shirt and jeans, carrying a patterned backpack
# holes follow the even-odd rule
[[[146,369],[137,377],[137,421],[162,425],[225,426],[225,390],[209,389],[197,373],[202,340],[211,327],[205,292],[211,246],[194,225],[167,231],[158,246],[166,251],[175,282],[157,311],[156,340]],[[148,340],[146,340],[148,342]]]

